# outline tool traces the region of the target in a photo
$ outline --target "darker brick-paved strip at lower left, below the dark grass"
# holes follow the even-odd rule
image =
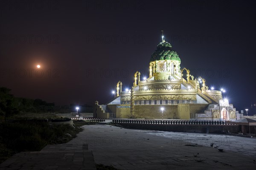
[[[0,170],[96,170],[93,153],[83,144],[52,144],[40,152],[21,152]]]

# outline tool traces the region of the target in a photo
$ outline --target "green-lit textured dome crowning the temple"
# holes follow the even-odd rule
[[[151,55],[150,61],[165,59],[177,60],[180,62],[177,52],[172,51],[172,45],[169,42],[160,42],[160,44],[157,45],[157,50]]]

